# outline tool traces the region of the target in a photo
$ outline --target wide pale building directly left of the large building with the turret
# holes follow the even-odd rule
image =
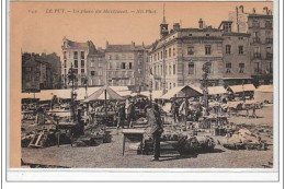
[[[139,91],[145,85],[145,47],[130,45],[110,45],[106,42],[106,81],[110,86],[136,86]]]

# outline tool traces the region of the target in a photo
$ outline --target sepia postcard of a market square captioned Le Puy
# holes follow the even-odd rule
[[[10,2],[8,166],[277,173],[275,3]]]

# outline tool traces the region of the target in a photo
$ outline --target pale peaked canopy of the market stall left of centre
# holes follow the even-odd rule
[[[106,96],[105,96],[106,91]],[[86,98],[83,102],[93,102],[99,99],[124,99],[119,94],[117,94],[114,90],[112,90],[109,86],[102,86],[100,90],[95,91],[93,94],[91,94],[88,98]]]

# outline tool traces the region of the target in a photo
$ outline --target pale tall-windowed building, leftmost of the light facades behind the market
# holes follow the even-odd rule
[[[83,86],[88,76],[87,56],[89,54],[92,42],[78,43],[71,42],[64,37],[64,45],[61,46],[64,62],[61,75],[65,86],[71,86],[71,81],[68,81],[68,72],[72,66],[73,72],[77,76],[75,85]],[[94,45],[93,45],[94,46]]]

